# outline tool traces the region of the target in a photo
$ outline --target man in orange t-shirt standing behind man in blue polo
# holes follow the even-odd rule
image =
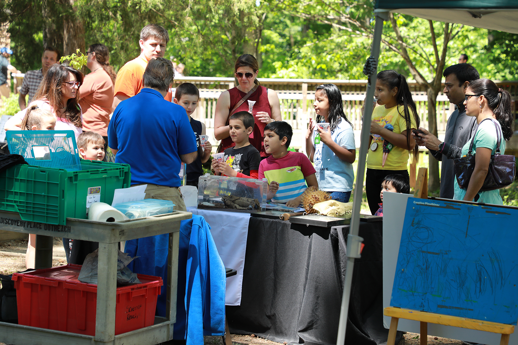
[[[148,62],[154,57],[164,57],[165,48],[169,41],[167,30],[158,24],[148,24],[140,31],[140,55],[128,61],[117,73],[115,81],[112,110],[120,102],[135,96],[143,86],[142,76]],[[171,92],[164,99],[171,101]]]

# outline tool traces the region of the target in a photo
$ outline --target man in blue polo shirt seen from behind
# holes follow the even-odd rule
[[[186,211],[180,189],[180,163],[197,157],[194,132],[185,109],[164,99],[173,82],[172,63],[151,59],[144,88],[119,103],[108,125],[116,163],[130,164],[131,184],[147,184],[146,198],[170,200]]]

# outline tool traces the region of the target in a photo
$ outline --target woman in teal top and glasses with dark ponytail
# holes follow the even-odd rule
[[[501,128],[500,152],[506,149],[503,139],[509,140],[513,135],[511,123],[511,95],[489,79],[479,79],[469,84],[466,90],[466,115],[477,118],[477,132],[474,134],[473,151],[475,152],[475,168],[469,180],[468,188],[461,189],[455,184],[453,199],[476,201],[487,204],[502,204],[502,198],[498,189],[480,191],[489,169],[491,155],[495,154],[497,143],[497,131],[495,124]],[[491,121],[484,121],[484,119]],[[497,121],[494,121],[494,120]],[[469,151],[469,140],[462,148],[462,156]]]

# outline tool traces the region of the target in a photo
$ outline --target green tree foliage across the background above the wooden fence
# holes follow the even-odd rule
[[[261,77],[363,79],[363,62],[370,53],[373,28],[370,0],[17,0],[0,2],[0,20],[10,22],[11,63],[21,70],[40,67],[44,43],[63,50],[63,18],[73,12],[84,25],[87,47],[104,43],[117,70],[135,58],[139,32],[148,23],[166,27],[171,40],[165,56],[186,65],[190,76],[229,77],[237,56],[256,55]],[[44,16],[45,14],[45,16]],[[415,70],[433,79],[437,56],[429,22],[396,16],[401,37]],[[441,48],[444,24],[433,23]],[[517,35],[454,26],[445,66],[465,52],[481,75],[515,79]],[[450,26],[451,28],[451,26]],[[424,35],[423,33],[428,33]],[[395,69],[415,79],[412,67],[395,51],[400,42],[385,23],[380,68]],[[79,48],[79,47],[77,47]],[[74,49],[75,50],[75,49]],[[440,60],[440,59],[439,59]]]

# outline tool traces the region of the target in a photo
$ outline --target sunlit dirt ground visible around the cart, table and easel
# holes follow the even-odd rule
[[[0,274],[9,275],[11,273],[25,271],[25,252],[27,250],[27,240],[17,239],[0,242]],[[66,265],[65,251],[61,238],[54,237],[52,266]],[[259,338],[255,335],[236,335],[232,334],[234,345],[276,345],[277,342]],[[407,333],[399,342],[399,345],[419,345],[419,334]],[[437,338],[428,336],[429,344],[438,345],[462,345],[459,340]],[[223,345],[222,337],[205,337],[205,345]],[[6,345],[0,342],[0,345]],[[30,344],[17,344],[30,345]]]

